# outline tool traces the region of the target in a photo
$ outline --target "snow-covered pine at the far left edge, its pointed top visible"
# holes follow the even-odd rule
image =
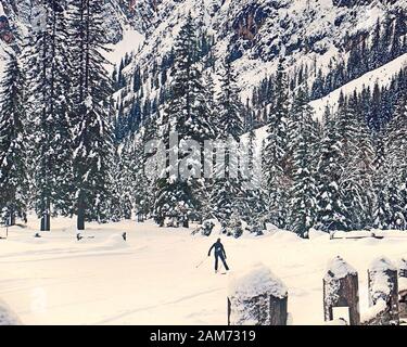
[[[0,213],[11,226],[27,211],[25,87],[18,59],[9,53],[0,95]]]

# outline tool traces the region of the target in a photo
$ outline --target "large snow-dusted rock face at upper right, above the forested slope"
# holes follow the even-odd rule
[[[245,97],[275,70],[281,54],[290,69],[307,64],[328,73],[332,60],[347,59],[349,38],[368,35],[378,20],[406,8],[405,0],[162,0],[154,3],[147,40],[127,70],[160,62],[191,12],[215,36],[216,57],[234,60]]]

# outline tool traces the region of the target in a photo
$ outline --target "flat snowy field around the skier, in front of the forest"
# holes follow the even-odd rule
[[[199,269],[218,234],[160,229],[152,222],[90,224],[76,241],[75,220],[13,227],[0,240],[0,299],[25,324],[226,324],[228,277],[215,274],[213,258]],[[128,241],[122,233],[128,233]],[[5,229],[0,229],[0,236]],[[386,235],[386,234],[385,234]],[[359,272],[361,313],[367,308],[367,268],[378,256],[407,257],[407,234],[383,240],[301,240],[284,231],[240,240],[222,237],[234,272],[263,262],[289,290],[292,324],[322,323],[322,278],[340,255]],[[94,239],[91,239],[94,237]]]

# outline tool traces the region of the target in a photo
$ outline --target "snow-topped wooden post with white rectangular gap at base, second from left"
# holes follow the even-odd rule
[[[357,271],[339,256],[329,264],[323,278],[325,321],[333,320],[334,307],[348,307],[348,323],[360,324]]]

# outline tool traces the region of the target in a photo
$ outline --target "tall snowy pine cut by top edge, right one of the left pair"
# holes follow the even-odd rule
[[[112,82],[105,70],[103,3],[71,0],[71,51],[75,119],[74,175],[78,230],[85,221],[107,218],[112,131]]]

